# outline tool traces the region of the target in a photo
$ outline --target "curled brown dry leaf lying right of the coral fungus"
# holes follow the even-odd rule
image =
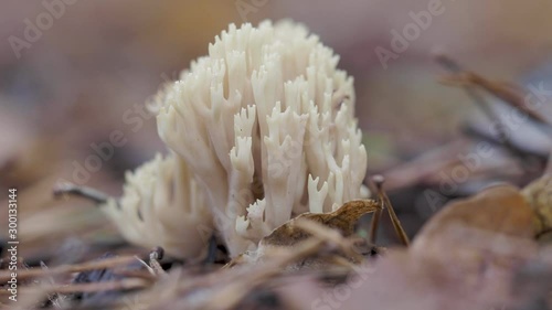
[[[492,186],[446,205],[424,225],[411,250],[445,264],[486,260],[488,250],[523,256],[532,245],[533,218],[517,188]]]

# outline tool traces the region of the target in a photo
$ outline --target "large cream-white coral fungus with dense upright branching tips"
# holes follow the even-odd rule
[[[120,205],[139,205],[148,221],[125,235],[185,256],[201,247],[197,225],[209,222],[206,209],[236,256],[297,214],[331,212],[365,196],[353,81],[337,68],[338,60],[301,24],[231,24],[208,56],[159,94],[159,135],[176,154],[150,163],[163,172],[145,167],[128,178]],[[176,178],[171,162],[189,171]],[[147,169],[141,174],[160,193],[136,201],[145,182],[138,175]],[[177,199],[169,199],[171,191]],[[155,221],[149,215],[161,214],[160,201],[174,213]],[[162,233],[146,237],[148,226]]]

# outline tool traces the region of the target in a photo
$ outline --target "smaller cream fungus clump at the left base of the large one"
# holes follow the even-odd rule
[[[161,246],[180,258],[201,258],[212,229],[203,190],[189,167],[174,153],[157,154],[135,172],[126,173],[119,201],[109,199],[102,210],[129,242]]]

